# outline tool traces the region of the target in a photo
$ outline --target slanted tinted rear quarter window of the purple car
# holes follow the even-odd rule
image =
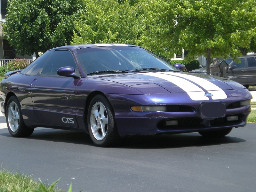
[[[24,75],[39,76],[40,73],[42,72],[45,62],[52,55],[53,52],[54,51],[45,52],[42,56],[40,56],[36,60],[34,60],[30,65],[28,65],[28,67],[26,67],[20,73],[24,74]]]

